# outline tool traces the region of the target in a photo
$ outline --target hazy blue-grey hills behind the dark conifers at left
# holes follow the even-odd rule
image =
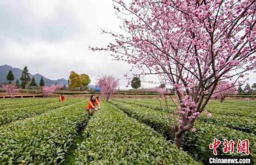
[[[17,79],[20,81],[20,76],[21,76],[22,70],[19,69],[19,68],[13,68],[12,66],[5,64],[5,65],[0,66],[0,83],[6,82],[6,76],[9,72],[9,70],[13,71],[13,75],[14,75],[13,83],[15,83]],[[51,79],[48,79],[45,76],[42,76],[40,74],[35,74],[35,75],[30,74],[31,78],[33,76],[34,76],[35,81],[36,81],[37,84],[39,84],[41,77],[43,77],[44,83],[46,85],[51,85],[53,83],[59,83],[59,84],[61,83],[61,84],[67,86],[67,80],[64,79],[64,78],[57,79],[57,80],[51,80]]]

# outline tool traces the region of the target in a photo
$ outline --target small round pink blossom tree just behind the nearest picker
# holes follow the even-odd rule
[[[116,88],[119,86],[119,78],[115,76],[99,76],[97,79],[97,86],[101,89],[101,94],[106,101],[110,98],[110,95],[114,94]]]

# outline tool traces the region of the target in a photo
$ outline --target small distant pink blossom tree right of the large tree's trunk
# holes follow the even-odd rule
[[[236,87],[234,87],[233,83],[220,81],[218,82],[218,85],[216,86],[212,98],[220,98],[220,101],[223,102],[228,95],[237,95],[238,91]]]

